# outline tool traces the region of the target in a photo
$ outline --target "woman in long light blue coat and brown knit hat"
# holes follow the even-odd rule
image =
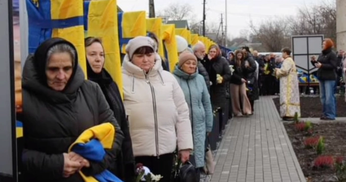
[[[185,51],[179,56],[174,77],[177,79],[189,106],[193,133],[195,167],[204,167],[205,140],[213,128],[213,111],[209,91],[202,75],[198,74],[197,58]]]

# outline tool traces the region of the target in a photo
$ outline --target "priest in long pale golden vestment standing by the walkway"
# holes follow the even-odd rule
[[[295,113],[301,116],[299,81],[296,64],[291,58],[289,48],[282,49],[281,68],[275,68],[275,76],[280,79],[280,117],[292,121]]]

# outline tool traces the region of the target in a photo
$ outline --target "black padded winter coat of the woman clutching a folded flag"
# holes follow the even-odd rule
[[[75,74],[60,92],[43,85],[33,56],[25,63],[22,80],[25,182],[84,182],[79,173],[63,178],[63,153],[92,126],[110,122],[116,128],[116,135],[114,146],[106,151],[104,160],[89,161],[90,167],[82,169],[85,175],[103,172],[121,149],[123,133],[100,87],[85,80],[77,61],[75,65]]]

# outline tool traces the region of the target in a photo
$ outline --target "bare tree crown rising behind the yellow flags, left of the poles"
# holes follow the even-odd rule
[[[180,4],[175,2],[168,5],[162,11],[159,11],[158,14],[169,17],[168,20],[186,20],[192,16],[191,9],[192,7],[188,3]]]

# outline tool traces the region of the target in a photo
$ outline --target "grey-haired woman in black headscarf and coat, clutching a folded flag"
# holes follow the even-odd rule
[[[44,41],[25,62],[22,87],[26,182],[84,182],[79,170],[94,176],[111,165],[123,132],[100,87],[85,80],[70,42],[61,38]],[[115,126],[116,135],[102,162],[68,153],[83,131],[104,122]]]

